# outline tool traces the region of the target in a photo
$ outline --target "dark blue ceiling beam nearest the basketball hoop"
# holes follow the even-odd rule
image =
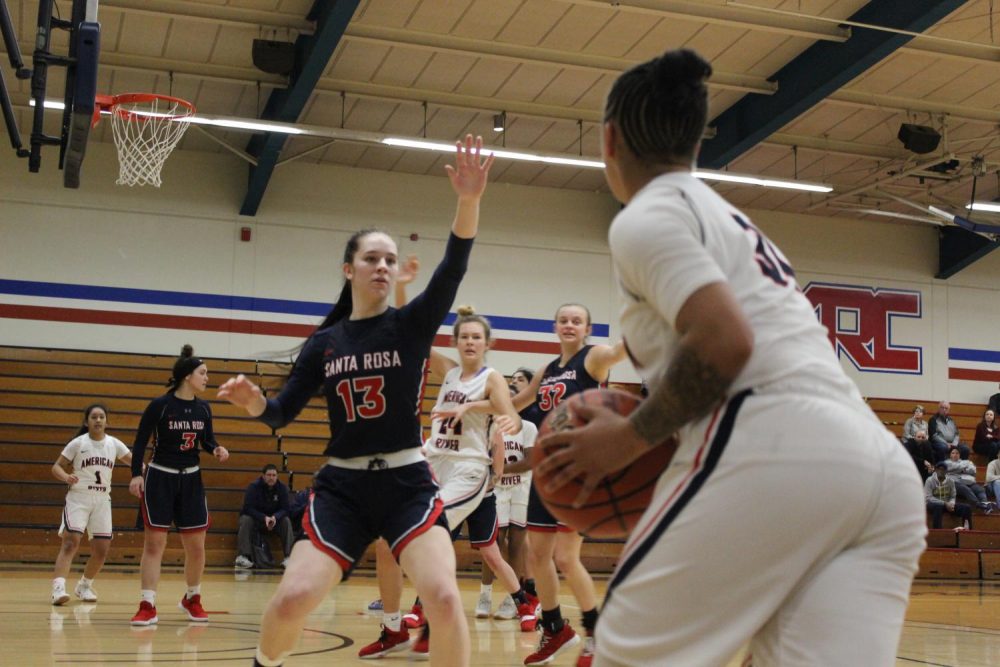
[[[294,123],[312,96],[316,83],[330,63],[330,58],[354,16],[360,0],[316,0],[307,17],[316,21],[313,35],[300,35],[296,40],[295,70],[288,88],[271,91],[261,118]],[[256,215],[278,157],[288,135],[277,132],[255,135],[247,145],[247,153],[257,159],[250,165],[247,194],[240,207],[241,215]]]

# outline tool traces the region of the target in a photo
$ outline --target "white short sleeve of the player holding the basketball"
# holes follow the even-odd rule
[[[726,277],[701,240],[701,226],[683,199],[620,214],[609,235],[622,287],[650,304],[671,326],[688,298]]]

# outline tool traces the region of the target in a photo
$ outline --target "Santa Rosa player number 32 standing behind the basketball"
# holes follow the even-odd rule
[[[607,382],[611,367],[625,358],[622,343],[614,346],[587,344],[591,332],[590,311],[583,305],[560,306],[556,311],[555,331],[561,354],[535,373],[528,386],[514,397],[514,405],[519,410],[525,410],[534,401],[531,415],[539,424],[563,399]],[[580,605],[586,632],[577,667],[590,667],[597,624],[597,591],[580,560],[583,537],[560,524],[545,509],[534,487],[536,481],[532,480],[528,499],[528,554],[542,606],[542,637],[538,650],[526,657],[524,664],[546,664],[580,641],[569,623],[563,620],[559,608],[559,571],[562,571]]]

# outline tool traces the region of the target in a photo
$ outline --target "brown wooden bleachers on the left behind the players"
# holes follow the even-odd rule
[[[76,434],[84,408],[91,403],[107,405],[108,433],[131,447],[142,411],[165,391],[174,359],[169,355],[0,346],[0,466],[9,473],[0,477],[0,560],[55,559],[66,487],[52,477],[51,467]],[[325,405],[318,397],[295,422],[277,433],[214,398],[218,385],[236,373],[251,377],[265,389],[274,389],[288,372],[287,366],[239,359],[206,359],[206,363],[210,384],[203,398],[212,407],[216,438],[231,454],[225,464],[204,454],[201,457],[212,514],[206,558],[210,566],[228,566],[235,557],[236,526],[247,484],[257,478],[265,464],[273,463],[293,491],[308,485],[310,475],[325,461],[329,426]],[[431,378],[423,402],[425,429],[429,428],[427,414],[438,386]],[[127,469],[119,465],[112,483],[115,540],[109,563],[138,563],[142,554],[142,531],[136,528],[138,500],[128,493],[128,482]],[[584,561],[595,572],[608,572],[621,546],[615,541],[588,541]],[[460,568],[479,568],[478,553],[466,541],[456,543],[456,548]],[[85,540],[81,554],[88,551]],[[183,562],[176,533],[168,538],[163,562]],[[361,567],[374,567],[372,550]]]

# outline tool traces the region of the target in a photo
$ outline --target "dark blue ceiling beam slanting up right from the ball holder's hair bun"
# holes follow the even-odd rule
[[[965,2],[871,0],[850,20],[921,32]],[[911,39],[909,35],[854,28],[843,44],[813,44],[771,77],[780,86],[777,93],[744,97],[712,121],[716,136],[702,146],[699,164],[721,169]]]

